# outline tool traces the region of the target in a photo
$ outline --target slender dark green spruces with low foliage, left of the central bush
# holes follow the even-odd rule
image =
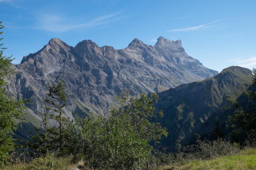
[[[77,128],[73,120],[62,117],[63,108],[66,106],[66,94],[64,80],[58,79],[57,84],[48,85],[47,95],[50,99],[45,99],[49,106],[44,109],[43,128],[36,128],[37,135],[32,136],[32,140],[27,142],[27,146],[34,152],[46,154],[47,151],[58,152],[58,154],[77,153]],[[53,111],[55,114],[48,113]],[[50,119],[58,123],[58,127],[51,127],[47,124],[47,115]]]

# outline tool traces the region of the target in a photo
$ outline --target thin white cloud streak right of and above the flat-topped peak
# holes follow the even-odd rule
[[[222,25],[222,24],[213,24],[213,23],[218,23],[221,20],[222,19],[212,21],[212,22],[209,22],[207,24],[203,24],[203,25],[199,25],[199,26],[191,26],[191,27],[185,27],[185,28],[179,28],[179,29],[172,29],[172,30],[168,30],[167,32],[189,32],[189,31],[209,29],[209,28],[212,28],[212,27],[217,27],[217,26]]]

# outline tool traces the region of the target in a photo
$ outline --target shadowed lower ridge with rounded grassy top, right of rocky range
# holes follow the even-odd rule
[[[195,133],[209,132],[216,120],[212,115],[226,114],[227,96],[236,99],[242,95],[252,85],[251,77],[251,70],[231,66],[203,81],[182,84],[158,93],[156,107],[164,110],[162,124],[169,130],[162,144],[176,150],[188,143]]]

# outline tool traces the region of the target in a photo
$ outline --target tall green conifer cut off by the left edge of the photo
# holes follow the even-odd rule
[[[0,29],[4,28],[0,22]],[[0,32],[0,35],[3,32]],[[0,38],[0,41],[3,38]],[[6,91],[6,79],[10,78],[14,73],[12,67],[12,58],[3,55],[3,50],[0,44],[0,161],[13,150],[14,139],[12,137],[13,131],[17,129],[17,124],[14,119],[20,119],[23,115],[27,101],[16,100],[10,97]]]

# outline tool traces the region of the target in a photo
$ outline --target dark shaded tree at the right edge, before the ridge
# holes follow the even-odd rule
[[[256,143],[256,108],[254,105],[256,102],[256,69],[253,69],[252,72],[254,91],[246,92],[246,95],[251,99],[251,108],[244,110],[237,101],[231,100],[236,110],[234,116],[230,116],[228,120],[229,128],[232,129],[231,138],[242,145]]]

